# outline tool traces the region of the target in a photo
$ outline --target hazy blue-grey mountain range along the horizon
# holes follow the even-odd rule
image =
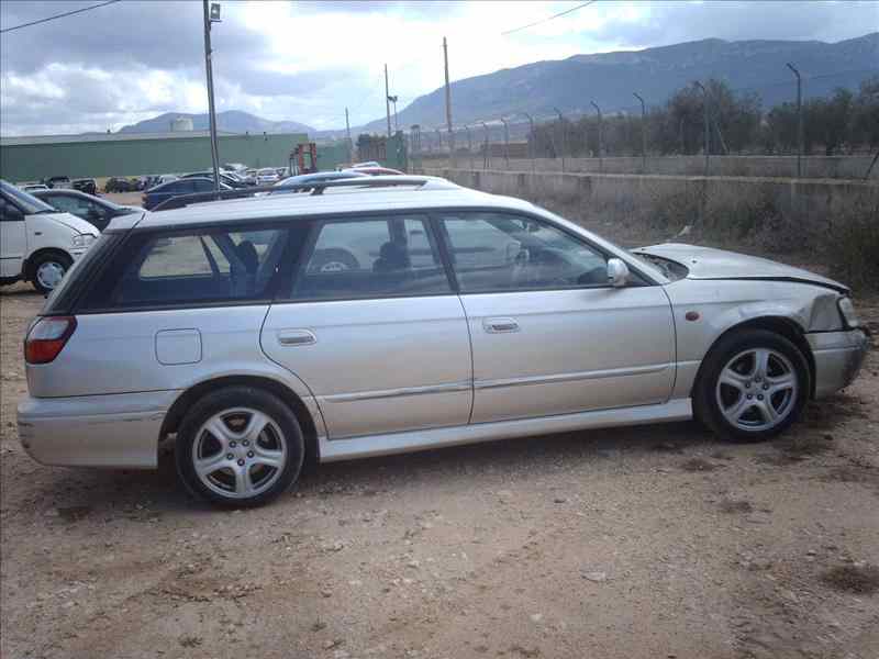
[[[574,55],[544,60],[452,83],[453,119],[456,125],[497,120],[524,112],[535,118],[592,112],[594,101],[604,113],[639,112],[633,92],[648,105],[661,104],[677,89],[694,80],[717,78],[734,90],[757,93],[764,108],[795,98],[792,63],[803,77],[804,98],[831,93],[837,87],[856,89],[870,76],[879,75],[879,32],[837,43],[819,41],[735,41],[719,38],[594,55]],[[121,129],[122,133],[169,130],[177,116],[190,116],[196,130],[208,127],[207,114],[169,112]],[[445,125],[443,88],[418,97],[400,110],[400,126],[422,129]],[[218,114],[218,127],[235,133],[307,132],[312,138],[342,137],[343,130],[315,131],[294,121],[269,121],[238,111]],[[354,134],[383,133],[385,118]]]

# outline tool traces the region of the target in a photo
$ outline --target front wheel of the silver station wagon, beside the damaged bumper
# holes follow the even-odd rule
[[[721,338],[693,388],[697,418],[730,442],[764,442],[797,421],[811,391],[809,364],[790,340],[766,330]]]

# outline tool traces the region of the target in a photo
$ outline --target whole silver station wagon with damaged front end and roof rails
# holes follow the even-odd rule
[[[113,221],[25,339],[45,465],[155,468],[234,505],[331,461],[698,417],[766,439],[857,375],[841,283],[728,252],[627,252],[431,177]]]

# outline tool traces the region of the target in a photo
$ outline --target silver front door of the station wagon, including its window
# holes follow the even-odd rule
[[[604,254],[531,217],[449,213],[441,227],[472,340],[472,423],[668,399],[675,337],[661,287],[610,287]]]

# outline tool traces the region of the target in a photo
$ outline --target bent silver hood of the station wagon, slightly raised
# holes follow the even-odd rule
[[[678,261],[689,270],[688,279],[801,281],[823,286],[839,292],[848,292],[848,287],[845,284],[809,270],[786,266],[766,258],[726,252],[725,249],[713,249],[683,243],[663,243],[660,245],[639,247],[633,252]]]

